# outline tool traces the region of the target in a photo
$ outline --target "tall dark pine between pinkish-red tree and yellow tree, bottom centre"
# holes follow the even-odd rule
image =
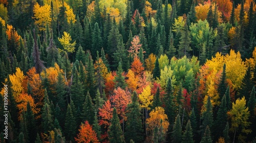
[[[129,142],[129,140],[133,139],[135,142],[141,142],[143,140],[142,115],[136,91],[133,92],[132,103],[127,105],[126,111],[127,122],[126,132],[124,133],[125,140]]]

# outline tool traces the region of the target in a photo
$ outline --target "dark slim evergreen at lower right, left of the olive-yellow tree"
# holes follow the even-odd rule
[[[201,120],[203,121],[203,123],[200,126],[202,135],[203,135],[203,132],[205,132],[206,126],[210,128],[212,126],[212,122],[214,122],[214,118],[212,116],[212,105],[210,102],[210,96],[208,96],[207,103],[204,106],[206,110],[202,114]]]

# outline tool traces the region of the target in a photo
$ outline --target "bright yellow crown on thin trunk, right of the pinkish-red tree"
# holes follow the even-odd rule
[[[139,94],[139,100],[142,103],[142,105],[140,105],[141,108],[150,110],[150,107],[148,106],[151,106],[153,103],[153,95],[151,95],[150,85],[147,85],[145,88],[143,88],[143,91],[141,94]]]

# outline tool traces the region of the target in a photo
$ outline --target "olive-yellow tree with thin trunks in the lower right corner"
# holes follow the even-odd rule
[[[251,124],[248,122],[248,118],[250,116],[250,113],[248,111],[248,107],[246,107],[246,100],[243,97],[242,99],[237,99],[236,103],[232,103],[232,109],[228,112],[228,114],[231,117],[231,128],[230,131],[234,133],[233,142],[238,135],[239,141],[245,141],[246,136],[244,134],[248,134],[251,132],[250,129],[248,129],[248,126]]]

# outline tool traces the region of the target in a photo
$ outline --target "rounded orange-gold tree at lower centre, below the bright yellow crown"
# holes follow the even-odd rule
[[[167,132],[169,127],[168,117],[164,113],[164,109],[162,107],[156,107],[150,112],[150,117],[146,119],[147,130],[153,131],[155,127],[158,129],[161,127],[160,120],[163,121],[163,132],[164,134]]]

